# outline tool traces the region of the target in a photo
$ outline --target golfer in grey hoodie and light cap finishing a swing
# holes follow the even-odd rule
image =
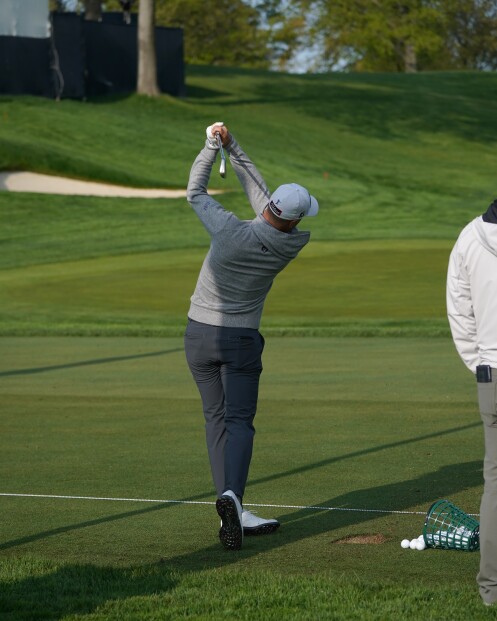
[[[207,194],[219,150],[219,134],[256,217],[239,220]],[[315,216],[318,203],[300,185],[273,194],[222,123],[207,128],[207,140],[193,163],[188,202],[211,237],[191,297],[185,352],[202,398],[207,450],[221,517],[219,538],[239,550],[243,534],[269,533],[277,520],[242,509],[254,439],[264,339],[259,324],[275,276],[309,241],[296,225]]]

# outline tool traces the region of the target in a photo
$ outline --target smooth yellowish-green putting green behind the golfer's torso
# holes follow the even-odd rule
[[[266,334],[446,334],[443,241],[315,242],[277,279]],[[0,272],[0,330],[182,334],[205,249]]]

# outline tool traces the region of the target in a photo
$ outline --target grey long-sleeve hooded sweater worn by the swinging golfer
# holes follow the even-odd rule
[[[235,171],[252,209],[253,220],[239,220],[207,194],[217,149],[208,142],[193,163],[187,199],[211,237],[188,316],[215,326],[259,328],[266,296],[275,276],[309,241],[310,233],[284,233],[262,211],[271,192],[251,160],[233,139],[229,147]]]

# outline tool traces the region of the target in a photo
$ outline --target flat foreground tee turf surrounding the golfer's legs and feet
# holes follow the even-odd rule
[[[181,339],[0,347],[0,491],[214,502]],[[447,339],[268,338],[264,364],[247,504],[478,512],[474,385]],[[213,504],[0,502],[6,619],[491,615],[478,553],[400,548],[422,515],[259,509],[280,531],[228,553]]]

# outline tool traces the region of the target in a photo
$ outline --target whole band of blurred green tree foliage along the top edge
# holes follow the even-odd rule
[[[98,0],[97,0],[98,4]],[[314,69],[497,67],[496,0],[156,0],[158,25],[185,31],[189,63],[285,69],[307,48]],[[83,0],[77,3],[82,10]],[[65,0],[50,0],[62,10]],[[105,10],[119,11],[118,0]],[[132,7],[138,10],[138,4]]]

